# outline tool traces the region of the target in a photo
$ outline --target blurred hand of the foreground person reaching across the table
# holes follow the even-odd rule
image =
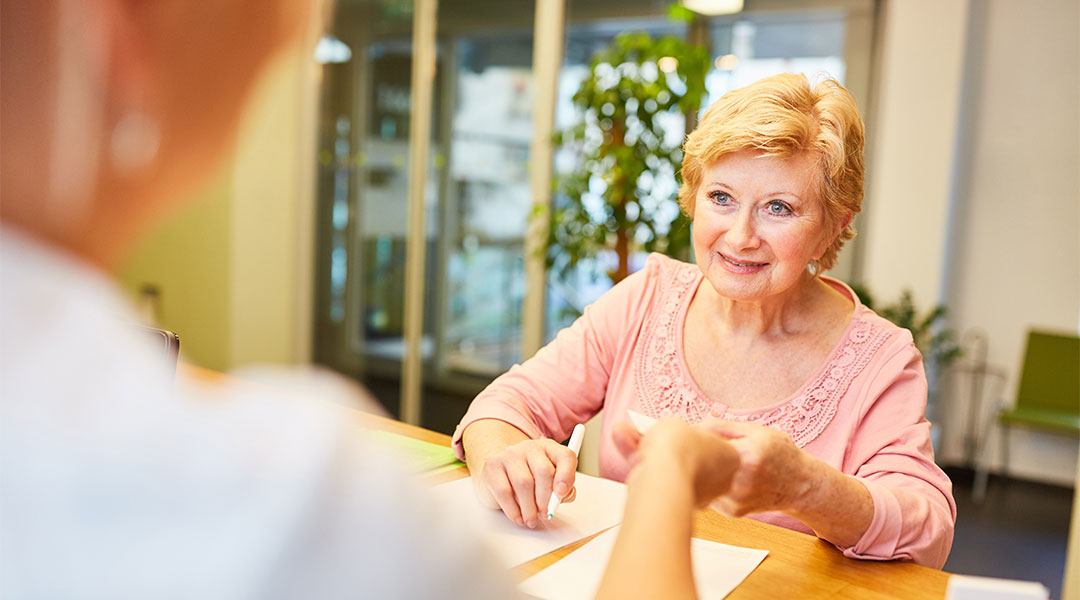
[[[617,423],[612,435],[631,468],[650,464],[681,471],[698,506],[727,492],[739,469],[739,454],[725,437],[680,419],[663,419],[644,436],[630,423]]]

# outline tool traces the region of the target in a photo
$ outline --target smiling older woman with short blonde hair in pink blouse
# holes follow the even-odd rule
[[[863,125],[836,81],[764,79],[721,97],[685,145],[679,202],[697,264],[653,255],[472,403],[454,436],[483,502],[534,527],[577,459],[555,440],[604,410],[600,475],[627,476],[627,411],[731,440],[713,502],[850,557],[940,568],[956,519],[923,417],[910,333],[823,276],[863,195]]]

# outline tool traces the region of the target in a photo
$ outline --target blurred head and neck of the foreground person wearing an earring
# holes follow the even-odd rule
[[[228,156],[319,0],[2,0],[0,216],[114,262]]]

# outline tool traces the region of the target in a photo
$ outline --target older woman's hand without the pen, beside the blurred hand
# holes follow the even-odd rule
[[[706,421],[700,426],[727,438],[739,452],[731,487],[712,502],[714,508],[732,517],[787,510],[810,491],[809,455],[782,432],[733,421]]]

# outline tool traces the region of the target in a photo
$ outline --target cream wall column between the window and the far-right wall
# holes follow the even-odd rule
[[[868,124],[862,279],[877,298],[941,297],[968,1],[891,0]]]

